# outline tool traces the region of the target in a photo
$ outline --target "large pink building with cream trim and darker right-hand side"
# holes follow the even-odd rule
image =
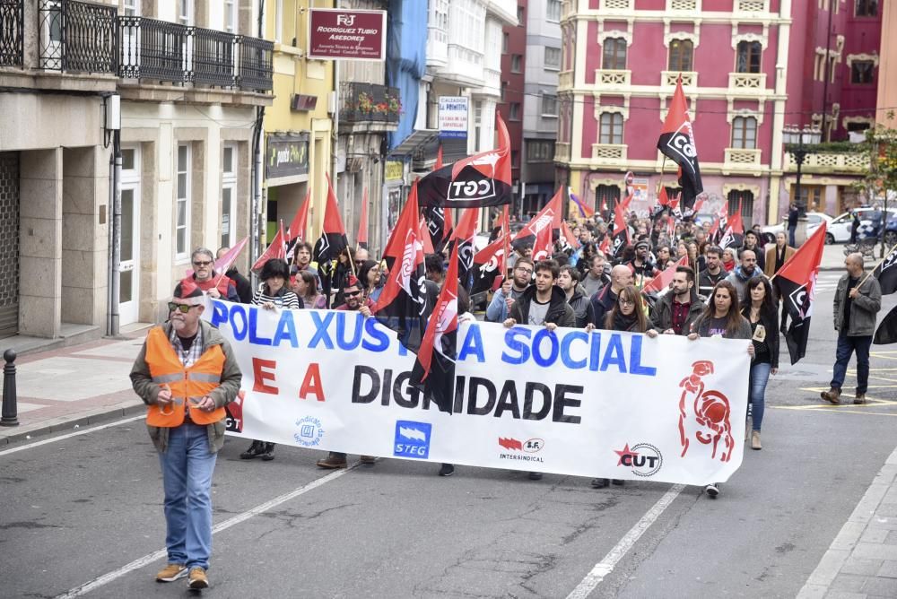
[[[830,139],[846,139],[875,116],[875,0],[567,0],[562,10],[555,162],[598,208],[620,197],[628,170],[637,208],[653,204],[661,179],[675,187],[675,164],[664,169],[656,146],[680,76],[707,194],[701,212],[740,202],[745,224],[777,221],[794,193],[786,126],[822,126],[825,114]],[[807,157],[808,209],[840,213],[858,160]]]

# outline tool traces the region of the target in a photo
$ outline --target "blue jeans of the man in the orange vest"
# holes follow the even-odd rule
[[[168,448],[159,454],[169,563],[185,564],[187,568],[209,567],[216,457],[209,451],[205,426],[182,424],[169,431]]]

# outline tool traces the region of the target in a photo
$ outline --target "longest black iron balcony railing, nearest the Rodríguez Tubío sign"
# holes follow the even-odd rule
[[[253,91],[272,88],[270,41],[145,17],[120,17],[119,23],[121,77]]]

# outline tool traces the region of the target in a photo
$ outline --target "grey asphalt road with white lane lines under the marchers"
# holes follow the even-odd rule
[[[874,346],[872,404],[818,399],[837,277],[820,277],[806,358],[771,379],[763,450],[746,452],[719,499],[475,468],[440,478],[439,464],[399,460],[328,474],[314,465],[321,452],[278,447],[273,462],[247,462],[230,441],[205,595],[796,595],[897,446],[897,346]],[[141,421],[13,446],[0,467],[2,595],[190,594],[152,579],[164,564],[161,475]]]

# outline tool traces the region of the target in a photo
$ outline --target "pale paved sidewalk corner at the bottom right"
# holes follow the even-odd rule
[[[897,597],[897,449],[819,561],[798,599]]]

